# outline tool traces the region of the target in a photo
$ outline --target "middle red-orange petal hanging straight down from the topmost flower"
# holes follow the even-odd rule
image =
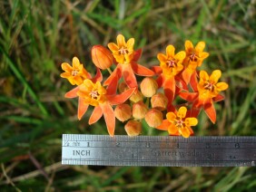
[[[124,82],[126,82],[126,84],[128,85],[128,87],[133,88],[133,87],[137,87],[137,80],[136,77],[133,73],[133,69],[132,66],[130,64],[125,64],[122,67],[123,70],[123,79]]]

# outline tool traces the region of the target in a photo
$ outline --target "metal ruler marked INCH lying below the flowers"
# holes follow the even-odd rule
[[[62,152],[66,165],[255,167],[256,137],[64,134]]]

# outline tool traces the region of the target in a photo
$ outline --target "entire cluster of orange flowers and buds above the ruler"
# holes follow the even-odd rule
[[[94,77],[76,57],[72,66],[62,63],[61,77],[76,85],[65,97],[78,97],[78,119],[93,106],[89,124],[103,116],[110,136],[114,135],[116,119],[125,123],[124,130],[129,136],[141,134],[145,120],[154,129],[188,138],[193,135],[192,126],[197,125],[201,110],[215,123],[213,102],[224,99],[220,92],[228,89],[228,84],[219,82],[220,70],[211,75],[197,71],[209,56],[203,52],[205,43],[199,42],[194,47],[191,41],[186,41],[185,51],[179,53],[175,53],[173,45],[168,45],[165,54],[157,54],[159,66],[148,69],[138,63],[142,49],[134,50],[134,42],[133,38],[126,42],[119,34],[116,43],[108,43],[109,49],[94,45],[92,60],[97,71]],[[110,72],[104,82],[101,70]],[[142,82],[137,82],[137,75],[143,77]],[[188,102],[178,107],[174,104],[177,97]]]

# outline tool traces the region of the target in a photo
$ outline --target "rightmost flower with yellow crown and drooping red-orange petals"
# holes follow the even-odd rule
[[[209,76],[205,71],[200,72],[200,81],[196,92],[181,92],[179,95],[186,101],[192,101],[192,116],[197,117],[203,109],[212,123],[216,121],[216,111],[213,102],[222,101],[224,97],[220,91],[227,90],[229,85],[226,82],[218,82],[222,76],[220,70],[215,70]]]

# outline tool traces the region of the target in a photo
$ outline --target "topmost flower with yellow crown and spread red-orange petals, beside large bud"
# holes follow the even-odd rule
[[[115,77],[117,77],[119,80],[123,76],[124,82],[126,82],[128,87],[133,88],[138,86],[135,74],[141,76],[154,75],[153,71],[137,63],[142,54],[142,50],[133,50],[133,38],[129,39],[126,43],[123,35],[119,34],[117,35],[116,41],[117,44],[108,43],[108,47],[113,53],[117,66],[108,79],[104,82],[104,85],[111,84]]]

